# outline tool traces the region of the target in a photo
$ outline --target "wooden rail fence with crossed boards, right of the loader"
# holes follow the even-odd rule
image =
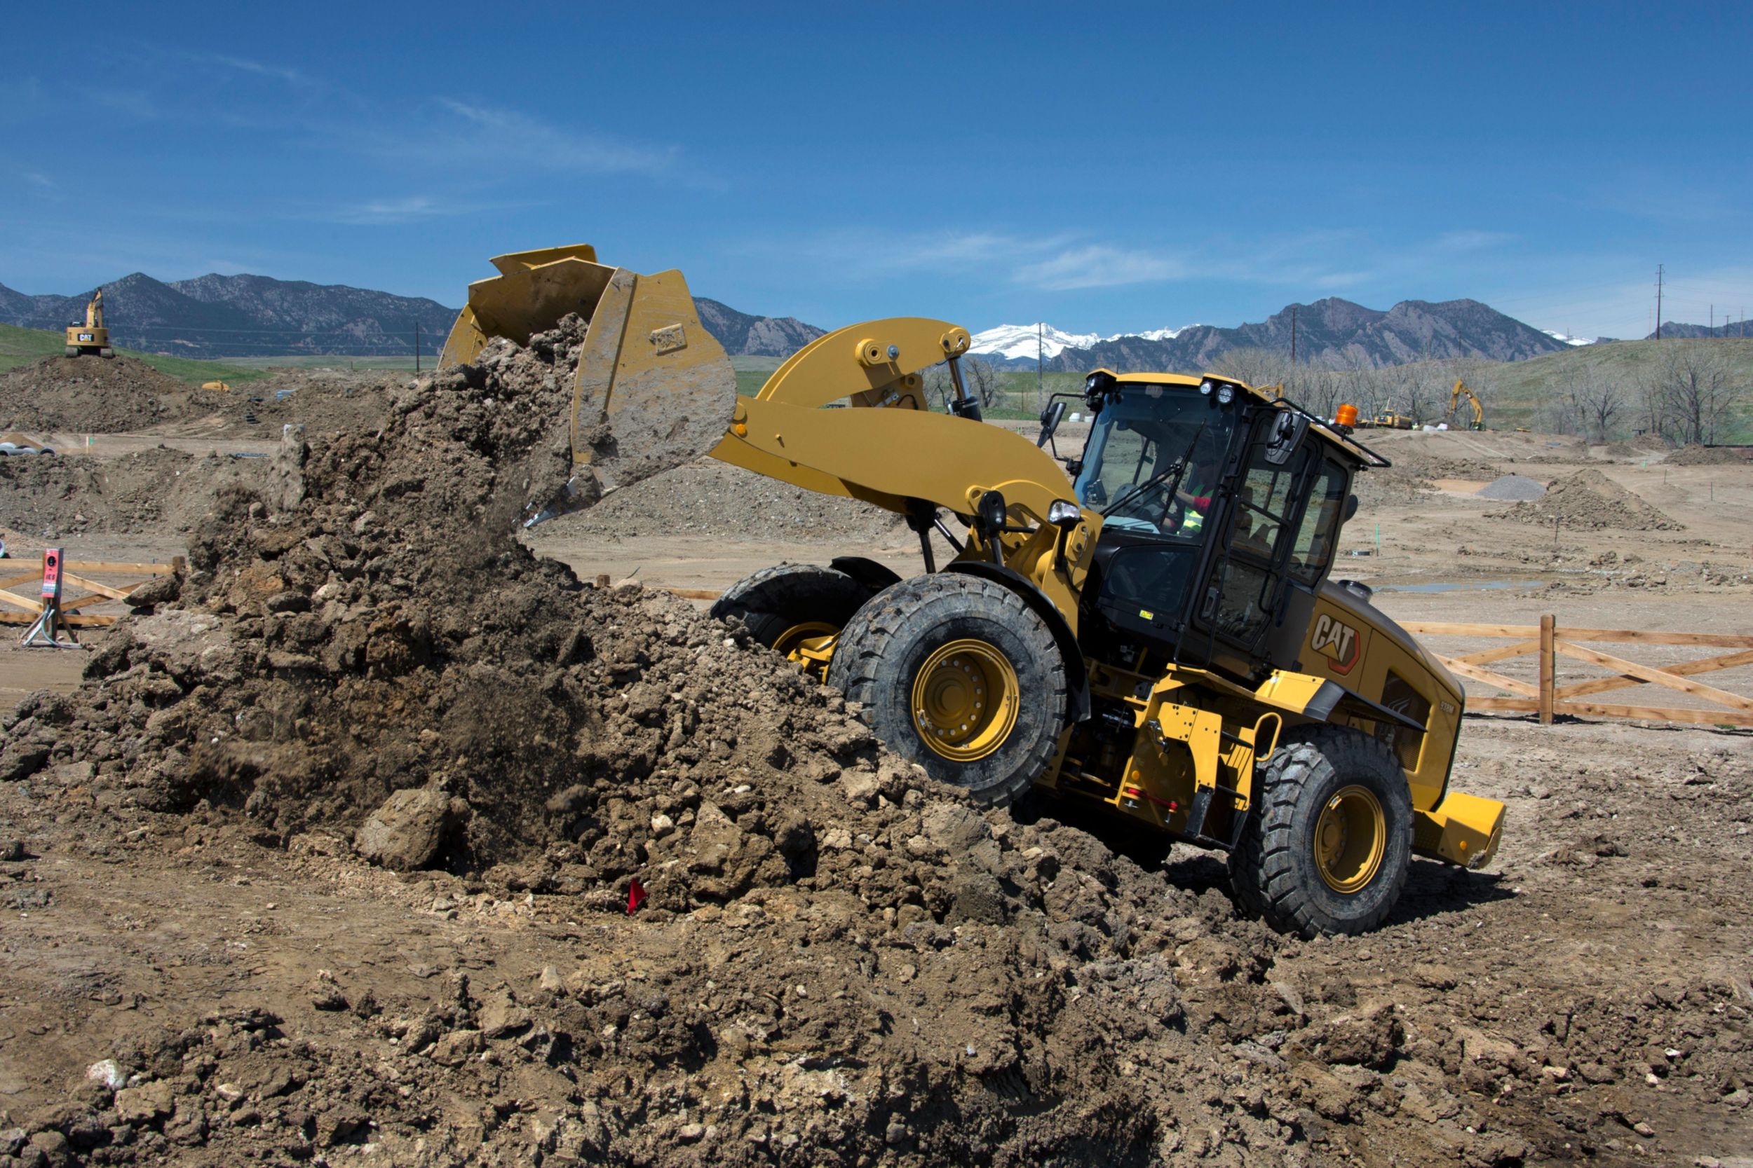
[[[1730,693],[1704,681],[1693,681],[1699,674],[1753,665],[1753,636],[1716,634],[1716,632],[1644,632],[1637,629],[1560,629],[1557,618],[1541,616],[1539,625],[1462,625],[1439,620],[1402,622],[1406,630],[1418,637],[1490,637],[1509,644],[1490,650],[1464,653],[1460,657],[1443,657],[1434,653],[1450,672],[1497,686],[1511,697],[1469,697],[1469,711],[1516,711],[1539,714],[1541,725],[1551,725],[1557,714],[1579,714],[1590,718],[1644,718],[1651,721],[1686,721],[1693,725],[1753,727],[1753,697]],[[1716,653],[1672,665],[1648,665],[1627,660],[1592,644],[1664,644],[1735,650]],[[1506,678],[1487,669],[1516,657],[1536,657],[1534,679]],[[1557,685],[1557,664],[1564,657],[1571,662],[1592,665],[1606,671],[1569,685]],[[1679,693],[1688,693],[1706,706],[1613,706],[1583,700],[1597,693],[1629,690],[1632,686],[1655,685]]]

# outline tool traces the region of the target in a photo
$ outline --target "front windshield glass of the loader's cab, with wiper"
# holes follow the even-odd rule
[[[1220,406],[1194,385],[1120,385],[1083,447],[1078,501],[1106,511],[1104,529],[1197,536],[1229,450],[1236,405]]]

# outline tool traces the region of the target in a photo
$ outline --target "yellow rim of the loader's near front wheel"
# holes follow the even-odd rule
[[[985,641],[950,641],[913,678],[913,728],[954,762],[985,758],[1017,725],[1022,690],[1010,660]]]

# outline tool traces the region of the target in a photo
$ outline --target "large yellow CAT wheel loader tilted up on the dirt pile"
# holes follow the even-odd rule
[[[920,574],[780,566],[713,613],[843,690],[933,776],[989,806],[1043,788],[1224,851],[1238,904],[1302,935],[1380,925],[1413,855],[1495,853],[1502,804],[1448,785],[1462,686],[1369,588],[1329,578],[1353,476],[1388,466],[1345,427],[1232,378],[1097,369],[1069,394],[1094,420],[1062,466],[1045,447],[1068,394],[1038,441],[983,424],[955,324],[829,333],[736,398],[678,273],[582,247],[494,264],[445,359],[591,317],[575,478],[549,513],[677,464],[715,426],[698,450],[906,517]],[[938,364],[957,394],[943,412],[922,376]],[[941,566],[933,532],[954,550]]]

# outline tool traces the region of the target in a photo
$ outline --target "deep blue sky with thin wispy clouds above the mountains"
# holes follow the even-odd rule
[[[1332,11],[1324,11],[1324,9]],[[747,9],[747,11],[745,11]],[[0,284],[461,303],[591,242],[820,326],[1753,310],[1746,5],[14,5]]]

